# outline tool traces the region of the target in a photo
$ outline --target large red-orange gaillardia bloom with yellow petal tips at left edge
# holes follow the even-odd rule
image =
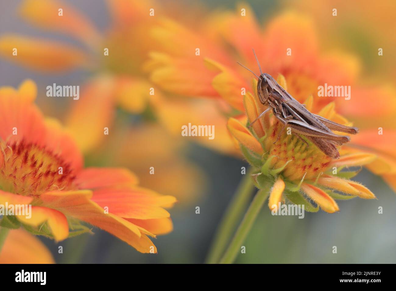
[[[30,80],[0,89],[0,204],[32,205],[31,217],[3,216],[0,225],[61,241],[89,232],[85,222],[156,253],[148,236],[172,230],[163,207],[175,198],[137,186],[127,169],[84,169],[69,133],[34,105],[36,91]]]

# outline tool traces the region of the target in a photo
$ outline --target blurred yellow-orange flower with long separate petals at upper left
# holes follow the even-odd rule
[[[24,0],[19,6],[19,15],[25,21],[40,29],[70,35],[82,43],[80,47],[15,34],[0,37],[0,56],[9,61],[47,73],[64,73],[77,68],[95,72],[81,92],[81,101],[73,103],[76,108],[66,120],[66,126],[83,152],[103,139],[103,134],[99,134],[103,126],[97,125],[109,126],[117,105],[133,114],[141,114],[162,98],[160,89],[154,88],[140,70],[143,55],[150,48],[149,38],[145,36],[147,25],[158,18],[149,15],[152,3],[111,0],[107,4],[113,23],[103,33],[88,17],[63,1]],[[58,16],[59,8],[63,9],[62,17]],[[17,55],[13,55],[13,48],[17,49]],[[150,88],[155,89],[154,95],[149,95]],[[92,102],[89,95],[100,101]],[[84,139],[79,138],[81,136]]]

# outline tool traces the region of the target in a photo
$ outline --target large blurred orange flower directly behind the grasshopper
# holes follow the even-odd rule
[[[241,15],[242,8],[246,10],[246,16]],[[340,115],[332,109],[337,105],[337,110],[341,114],[352,116],[356,120],[356,126],[360,128],[359,137],[354,139],[350,146],[345,146],[343,153],[353,154],[355,149],[351,146],[357,145],[364,146],[367,149],[366,152],[377,155],[381,163],[371,159],[371,164],[367,167],[374,173],[381,172],[384,179],[396,191],[396,152],[393,146],[396,132],[390,122],[396,112],[394,87],[387,84],[367,86],[365,80],[360,84],[358,82],[362,78],[360,77],[360,61],[353,55],[340,51],[322,52],[319,49],[315,23],[310,17],[293,11],[285,11],[271,19],[262,30],[254,14],[248,5],[240,4],[235,13],[216,11],[215,14],[203,20],[205,25],[196,30],[188,30],[182,24],[176,25],[170,21],[156,24],[153,30],[161,29],[162,35],[167,37],[153,34],[158,45],[155,51],[150,53],[150,60],[147,62],[152,82],[173,93],[183,93],[181,90],[185,91],[184,85],[186,84],[184,80],[194,80],[196,82],[192,87],[198,83],[198,87],[203,88],[205,84],[208,86],[206,76],[212,76],[215,72],[217,74],[211,80],[211,86],[217,95],[205,94],[204,91],[198,94],[192,90],[188,96],[221,98],[234,109],[243,112],[242,95],[244,91],[249,90],[248,80],[251,78],[251,73],[237,65],[235,61],[240,61],[253,70],[257,68],[257,62],[251,51],[254,48],[263,71],[272,76],[282,74],[287,80],[287,91],[300,103],[309,102],[312,112],[317,113],[333,101],[334,103],[327,107],[328,118],[338,119],[341,123],[345,122],[345,119],[340,118]],[[207,38],[202,37],[205,35]],[[194,39],[194,45],[184,43],[185,39]],[[219,39],[225,40],[225,44],[219,42]],[[186,49],[181,50],[184,54],[178,50],[167,49],[169,43],[173,42],[177,42],[180,48],[190,48],[187,50],[188,56],[186,56]],[[215,49],[211,49],[208,42],[216,44]],[[196,56],[191,51],[193,46],[205,49],[201,49],[200,56]],[[288,49],[290,49],[289,53],[287,53]],[[192,59],[195,61],[191,61]],[[197,59],[204,62],[206,72],[202,70],[201,64],[195,65]],[[230,62],[230,59],[235,61]],[[169,70],[169,68],[175,72],[177,78],[174,78],[175,80],[170,80],[166,76],[160,78],[159,76],[162,75],[159,72]],[[187,75],[188,72],[192,73]],[[195,72],[200,72],[200,76],[203,75],[205,78],[197,80]],[[345,100],[343,97],[315,97],[318,96],[318,86],[324,86],[325,83],[351,86],[353,96],[350,100]],[[208,92],[208,89],[206,91]],[[315,98],[307,101],[308,96]],[[373,102],[373,96],[381,96],[381,98],[377,98],[378,102]],[[239,112],[235,110],[224,111],[228,113],[228,116],[232,114],[239,116]],[[377,128],[385,127],[385,125],[387,125],[386,132],[378,135]],[[257,122],[256,132],[259,130],[258,126]],[[369,135],[368,132],[371,134]],[[369,136],[373,138],[374,135],[378,142],[373,143],[373,139],[369,138]],[[386,173],[383,171],[384,165],[389,169]]]

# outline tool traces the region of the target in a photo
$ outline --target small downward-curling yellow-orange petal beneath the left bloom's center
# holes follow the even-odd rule
[[[18,215],[17,218],[22,223],[35,227],[47,222],[56,241],[64,240],[69,236],[69,224],[67,223],[65,215],[55,209],[32,206],[31,217],[28,218],[25,215]]]

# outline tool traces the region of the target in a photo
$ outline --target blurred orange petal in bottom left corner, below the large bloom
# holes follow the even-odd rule
[[[23,229],[10,230],[0,252],[0,264],[54,264],[51,252]]]

